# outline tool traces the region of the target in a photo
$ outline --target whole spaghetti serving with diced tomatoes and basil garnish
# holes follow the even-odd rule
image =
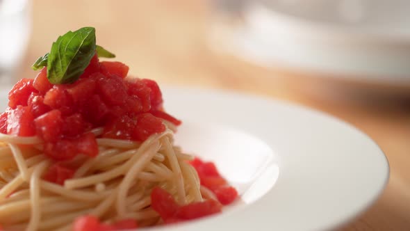
[[[215,164],[173,143],[158,84],[69,31],[0,114],[3,230],[126,230],[221,212],[238,197]]]

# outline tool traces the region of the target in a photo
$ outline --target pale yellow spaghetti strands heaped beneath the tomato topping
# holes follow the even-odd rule
[[[180,205],[217,200],[200,185],[192,156],[173,145],[170,123],[165,132],[140,143],[99,138],[99,154],[79,155],[63,164],[74,166],[63,185],[42,178],[53,160],[42,154],[38,137],[0,134],[0,224],[4,230],[71,230],[72,221],[90,214],[110,223],[124,218],[144,227],[162,223],[150,207],[151,190],[159,186]]]

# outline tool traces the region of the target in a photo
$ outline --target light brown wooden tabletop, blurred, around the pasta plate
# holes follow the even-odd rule
[[[206,2],[200,0],[34,0],[33,33],[20,75],[35,75],[29,66],[49,51],[56,35],[81,26],[95,26],[97,43],[115,51],[118,60],[130,65],[133,75],[156,79],[161,84],[276,97],[325,111],[370,135],[384,150],[391,166],[390,181],[382,197],[342,230],[410,230],[408,104],[388,102],[375,106],[355,100],[323,100],[302,90],[325,84],[314,77],[267,70],[215,52],[209,49],[206,39],[212,21],[210,12]]]

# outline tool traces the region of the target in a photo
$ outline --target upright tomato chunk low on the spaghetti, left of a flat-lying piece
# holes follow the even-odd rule
[[[158,212],[165,221],[167,218],[174,217],[179,205],[170,193],[160,187],[155,187],[151,192],[151,207]]]

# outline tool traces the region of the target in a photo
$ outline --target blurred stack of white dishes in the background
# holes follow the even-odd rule
[[[219,49],[268,66],[410,85],[410,1],[216,1],[243,19]]]

